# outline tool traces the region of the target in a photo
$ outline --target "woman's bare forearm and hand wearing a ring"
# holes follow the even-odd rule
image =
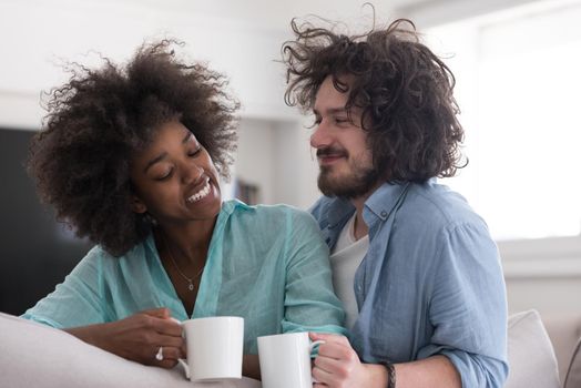
[[[125,319],[65,329],[79,339],[144,365],[173,368],[185,358],[182,327],[167,308],[155,308]],[[163,359],[155,356],[162,348]],[[160,357],[161,358],[161,357]]]

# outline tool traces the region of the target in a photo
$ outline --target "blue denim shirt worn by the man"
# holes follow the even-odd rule
[[[329,247],[355,207],[322,197],[312,208]],[[462,387],[502,387],[506,287],[487,225],[459,194],[430,180],[384,184],[365,203],[369,249],[355,279],[350,340],[365,363],[445,355]]]

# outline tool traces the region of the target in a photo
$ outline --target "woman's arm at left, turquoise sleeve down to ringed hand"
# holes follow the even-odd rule
[[[174,366],[177,357],[185,354],[180,325],[170,319],[166,308],[147,309],[119,319],[105,278],[113,285],[123,282],[115,277],[116,267],[105,265],[118,262],[109,259],[100,247],[91,249],[53,293],[22,317],[63,329],[88,344],[133,361]],[[164,358],[161,361],[155,358],[160,347],[163,347]]]

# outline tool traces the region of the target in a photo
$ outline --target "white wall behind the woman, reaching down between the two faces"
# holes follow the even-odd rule
[[[316,197],[315,181],[303,178],[314,173],[302,161],[308,150],[302,118],[284,104],[284,69],[275,62],[287,25],[265,28],[155,1],[3,0],[0,34],[0,126],[37,130],[41,91],[65,82],[65,62],[99,65],[98,52],[124,61],[144,40],[174,37],[186,43],[187,59],[225,73],[242,102],[235,170],[261,183],[266,203],[306,207]],[[292,176],[283,177],[287,172]]]

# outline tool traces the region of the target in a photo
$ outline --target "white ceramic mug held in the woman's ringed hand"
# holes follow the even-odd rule
[[[181,323],[187,361],[180,360],[192,381],[242,378],[244,318],[207,317]]]

